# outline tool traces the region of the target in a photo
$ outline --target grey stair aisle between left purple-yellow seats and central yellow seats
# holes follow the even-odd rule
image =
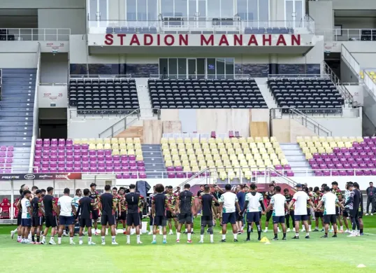
[[[159,144],[142,144],[145,172],[148,179],[167,178],[166,166]]]

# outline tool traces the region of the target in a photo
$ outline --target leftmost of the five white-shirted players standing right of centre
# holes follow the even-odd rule
[[[238,230],[236,228],[236,212],[240,211],[238,197],[231,192],[231,185],[224,186],[226,193],[219,198],[219,209],[222,209],[222,241],[226,241],[227,224],[231,223],[233,228],[233,241],[238,241]]]

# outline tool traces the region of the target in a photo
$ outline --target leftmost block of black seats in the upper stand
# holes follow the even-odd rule
[[[131,112],[140,108],[136,81],[131,78],[71,78],[69,105],[77,106],[78,113]]]

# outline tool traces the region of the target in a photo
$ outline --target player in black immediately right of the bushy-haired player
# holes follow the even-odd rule
[[[176,200],[176,211],[179,214],[179,225],[178,230],[176,232],[176,242],[180,242],[180,232],[182,230],[182,225],[185,224],[187,226],[187,243],[191,243],[191,224],[192,224],[192,216],[194,215],[193,211],[193,202],[194,202],[194,195],[189,191],[191,186],[189,184],[185,184],[184,190],[179,194],[179,197]],[[200,193],[201,196],[201,193]]]

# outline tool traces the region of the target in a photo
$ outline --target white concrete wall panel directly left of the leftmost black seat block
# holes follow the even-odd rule
[[[51,104],[55,104],[55,106]],[[38,107],[67,108],[68,87],[66,85],[40,85],[38,90]]]

